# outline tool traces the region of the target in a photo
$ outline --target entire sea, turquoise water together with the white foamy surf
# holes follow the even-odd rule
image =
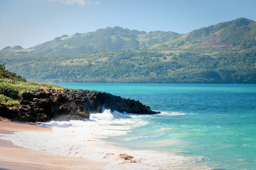
[[[160,113],[105,109],[85,121],[40,125],[51,133],[0,138],[64,155],[89,153],[90,159],[106,162],[115,152],[134,156],[137,165],[119,164],[120,169],[256,169],[256,84],[52,84],[139,100]]]

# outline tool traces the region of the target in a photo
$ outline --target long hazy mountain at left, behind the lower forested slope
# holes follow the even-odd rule
[[[28,49],[7,46],[0,53],[36,56],[82,54],[96,50],[147,49],[156,43],[176,39],[179,36],[180,34],[175,32],[152,31],[146,33],[121,27],[107,27],[95,32],[75,33],[72,36],[63,35]]]

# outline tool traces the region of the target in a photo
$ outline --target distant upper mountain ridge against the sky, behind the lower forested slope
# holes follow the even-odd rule
[[[164,31],[137,31],[107,27],[94,32],[63,35],[32,48],[21,46],[3,48],[1,54],[59,55],[82,54],[96,50],[173,50],[188,48],[247,49],[255,46],[256,22],[238,18],[196,29],[186,35]]]

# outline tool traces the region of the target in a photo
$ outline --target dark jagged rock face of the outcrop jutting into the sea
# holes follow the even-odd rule
[[[89,90],[45,89],[24,93],[20,104],[14,108],[0,107],[0,116],[15,121],[45,122],[53,120],[84,120],[90,113],[100,113],[102,109],[135,114],[155,114],[150,107],[139,101],[123,99],[105,92]]]

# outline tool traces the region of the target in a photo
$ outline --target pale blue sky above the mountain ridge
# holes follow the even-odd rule
[[[119,26],[189,33],[237,18],[256,21],[256,0],[0,0],[0,50]]]

